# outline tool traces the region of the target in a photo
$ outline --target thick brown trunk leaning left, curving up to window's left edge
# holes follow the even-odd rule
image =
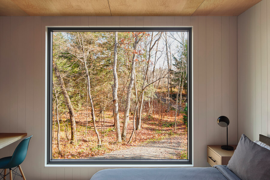
[[[72,107],[72,104],[70,102],[70,98],[69,95],[67,94],[67,90],[64,84],[64,80],[55,64],[55,62],[52,63],[52,68],[55,72],[55,76],[58,79],[58,82],[60,84],[61,90],[62,90],[62,94],[64,96],[65,99],[65,104],[67,106],[68,109],[68,113],[69,113],[69,117],[70,117],[70,124],[71,124],[71,143],[72,141],[76,141],[76,122],[75,122],[75,113]]]

